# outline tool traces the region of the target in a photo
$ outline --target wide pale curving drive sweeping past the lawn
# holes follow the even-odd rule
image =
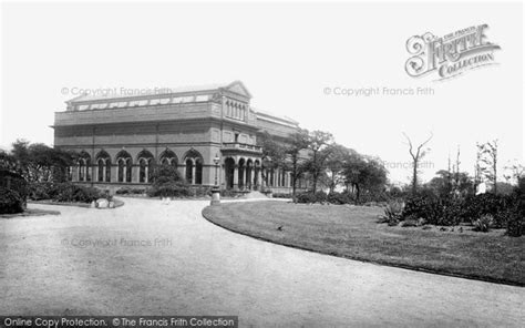
[[[62,215],[0,219],[0,315],[238,315],[240,327],[525,322],[525,288],[260,242],[205,221],[207,202],[125,202],[30,205]]]

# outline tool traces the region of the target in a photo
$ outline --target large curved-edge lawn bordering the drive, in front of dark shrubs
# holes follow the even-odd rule
[[[203,215],[222,227],[264,240],[358,260],[525,286],[525,237],[503,229],[390,227],[380,207],[285,202],[208,206]]]

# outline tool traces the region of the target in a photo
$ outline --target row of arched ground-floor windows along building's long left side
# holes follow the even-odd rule
[[[165,150],[159,156],[159,164],[173,165],[178,168],[178,160],[171,150]],[[184,162],[185,178],[192,184],[203,183],[203,157],[195,150],[186,153]],[[112,161],[105,151],[101,151],[95,157],[95,165],[91,163],[91,156],[86,152],[80,154],[78,161],[78,178],[80,182],[91,182],[91,167],[96,167],[96,182],[112,182]],[[133,173],[133,158],[126,151],[121,151],[115,156],[116,182],[131,183]],[[152,182],[155,160],[151,152],[143,150],[137,155],[136,166],[138,167],[138,183]]]

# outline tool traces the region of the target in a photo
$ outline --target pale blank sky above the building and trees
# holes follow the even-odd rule
[[[81,89],[240,80],[253,106],[381,157],[392,182],[411,174],[403,132],[414,144],[433,135],[424,181],[446,168],[457,148],[460,168],[472,173],[476,142],[498,140],[501,170],[523,162],[521,3],[2,2],[1,9],[2,147],[19,137],[51,145],[54,112]],[[443,81],[406,74],[410,37],[480,24],[501,47],[497,64]]]

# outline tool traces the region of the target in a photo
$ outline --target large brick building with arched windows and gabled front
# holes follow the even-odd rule
[[[257,139],[267,132],[284,142],[298,123],[251,107],[250,99],[239,81],[133,96],[82,95],[55,113],[54,145],[80,154],[72,181],[113,191],[146,186],[161,163],[177,167],[192,185],[213,186],[217,178],[222,188],[287,192],[289,172],[264,167]]]

